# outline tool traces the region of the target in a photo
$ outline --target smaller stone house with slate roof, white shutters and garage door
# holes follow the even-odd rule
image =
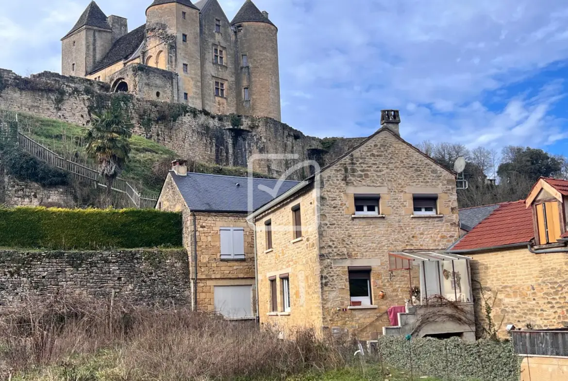
[[[246,217],[273,199],[258,187],[274,189],[278,181],[187,173],[185,162],[173,164],[156,208],[183,213],[193,309],[216,311],[228,319],[254,319],[254,232]],[[296,184],[281,182],[276,195]],[[249,199],[254,200],[250,206]]]

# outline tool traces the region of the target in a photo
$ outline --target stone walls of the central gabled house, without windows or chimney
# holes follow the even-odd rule
[[[303,241],[291,244],[291,233],[281,231],[291,225],[294,200],[256,218],[261,322],[278,319],[283,325],[372,337],[389,325],[387,309],[404,305],[410,291],[407,271],[389,271],[389,252],[444,250],[459,238],[456,178],[382,129],[324,169],[319,180],[320,188],[304,196],[309,200],[302,199],[302,228],[309,232]],[[355,194],[380,195],[381,215],[354,216]],[[413,215],[413,194],[437,195],[437,215]],[[264,253],[262,232],[268,219],[273,220],[274,245],[272,252]],[[307,266],[310,258],[315,263]],[[368,308],[350,307],[351,266],[371,269],[373,305]],[[270,299],[266,275],[278,271],[290,274],[291,312],[274,317],[266,313]],[[418,279],[415,282],[419,284]],[[307,295],[314,298],[309,308],[304,307]]]

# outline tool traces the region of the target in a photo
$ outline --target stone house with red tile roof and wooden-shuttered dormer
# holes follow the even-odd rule
[[[540,178],[526,200],[498,206],[449,248],[472,257],[475,312],[485,322],[482,293],[496,298],[492,319],[506,326],[568,325],[568,181]],[[481,325],[478,325],[481,329]]]

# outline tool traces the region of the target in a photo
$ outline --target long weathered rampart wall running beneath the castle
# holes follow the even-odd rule
[[[215,115],[178,103],[147,101],[127,94],[110,94],[110,86],[90,79],[44,72],[30,78],[0,69],[0,109],[64,120],[85,126],[112,99],[127,109],[134,132],[174,150],[185,159],[224,166],[253,165],[278,177],[293,164],[317,159],[325,165],[360,139],[337,139],[327,147],[270,118]],[[327,156],[327,152],[332,152]],[[252,160],[254,154],[296,154],[298,158]],[[290,179],[307,175],[300,170]]]

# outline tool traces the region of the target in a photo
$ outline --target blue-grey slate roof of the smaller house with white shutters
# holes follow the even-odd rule
[[[170,171],[170,174],[191,211],[249,212],[249,178],[247,177],[202,173],[188,173],[187,176],[178,176],[174,171]],[[237,186],[237,183],[239,186]],[[273,179],[253,179],[252,195],[255,210],[298,185],[299,182],[283,181],[274,196],[262,189],[268,187],[269,190],[272,190],[277,186],[277,183],[278,180]]]

